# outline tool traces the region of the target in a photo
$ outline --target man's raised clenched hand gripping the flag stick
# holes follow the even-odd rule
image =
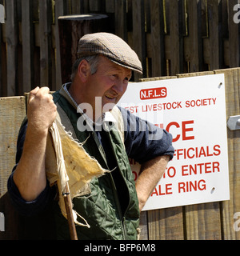
[[[36,134],[47,132],[56,118],[57,106],[49,92],[48,87],[36,87],[30,91],[27,106],[28,126]]]

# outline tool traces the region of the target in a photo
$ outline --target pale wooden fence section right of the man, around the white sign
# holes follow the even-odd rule
[[[186,78],[207,74],[225,74],[226,118],[240,113],[240,69],[214,70],[178,74],[170,78]],[[152,81],[166,78],[147,78]],[[227,122],[227,120],[226,120]],[[142,239],[238,240],[234,230],[240,210],[240,130],[227,130],[230,201],[152,210],[142,213]],[[240,214],[240,213],[239,213]]]

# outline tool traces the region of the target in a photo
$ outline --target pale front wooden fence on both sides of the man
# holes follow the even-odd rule
[[[226,118],[240,113],[240,68],[214,70],[175,77],[225,74]],[[166,79],[149,78],[148,80]],[[146,81],[146,79],[145,79]],[[13,209],[6,193],[6,182],[14,166],[15,142],[18,127],[26,114],[25,98],[0,98],[0,212],[5,214],[6,232],[1,239],[54,238],[53,219],[50,212],[36,218],[22,218]],[[227,122],[227,120],[226,120]],[[150,210],[141,214],[142,240],[238,240],[240,231],[234,230],[234,214],[240,213],[240,130],[227,131],[229,152],[230,201],[210,202],[162,210]],[[3,161],[2,161],[3,160]],[[227,181],[226,181],[227,182]],[[34,229],[33,229],[34,226]]]

